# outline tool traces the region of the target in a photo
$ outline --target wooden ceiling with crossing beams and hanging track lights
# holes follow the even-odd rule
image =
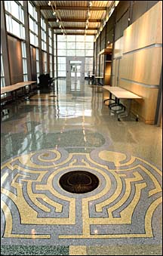
[[[35,6],[40,7],[45,19],[48,19],[48,23],[54,28],[54,33],[63,34],[64,32],[66,35],[96,35],[101,21],[106,17],[106,8],[109,8],[113,1],[32,2]],[[53,14],[54,11],[56,14]],[[59,19],[59,23],[57,23],[57,18]],[[86,29],[87,25],[88,28]]]

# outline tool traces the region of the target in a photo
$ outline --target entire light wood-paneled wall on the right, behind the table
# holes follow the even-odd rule
[[[114,62],[121,57],[119,86],[143,97],[132,101],[131,111],[148,124],[155,123],[161,76],[161,10],[160,1],[128,26],[123,37],[115,42]]]

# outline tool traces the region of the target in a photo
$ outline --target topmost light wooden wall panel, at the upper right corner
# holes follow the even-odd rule
[[[134,51],[152,44],[162,43],[161,1],[143,14],[124,31],[123,52]]]

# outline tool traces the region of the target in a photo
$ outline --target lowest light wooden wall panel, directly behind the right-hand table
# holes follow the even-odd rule
[[[132,100],[131,111],[140,116],[146,124],[154,124],[158,88],[146,88],[135,82],[119,81],[119,86],[143,97],[143,100]]]

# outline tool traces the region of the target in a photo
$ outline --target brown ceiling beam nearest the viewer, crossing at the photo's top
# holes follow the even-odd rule
[[[49,5],[40,6],[41,10],[52,10]],[[57,10],[88,11],[87,6],[57,6]],[[91,7],[90,11],[106,11],[106,7]]]

